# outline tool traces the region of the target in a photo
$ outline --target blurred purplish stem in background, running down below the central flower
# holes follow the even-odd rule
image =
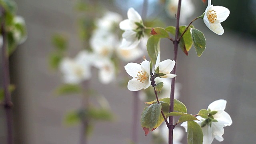
[[[138,144],[138,110],[139,110],[139,92],[133,92],[133,116],[132,116],[132,142]]]

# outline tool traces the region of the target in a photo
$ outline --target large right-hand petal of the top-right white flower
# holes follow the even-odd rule
[[[225,8],[224,6],[213,6],[212,9],[216,11],[216,15],[218,16],[218,22],[223,22],[228,18],[230,14],[228,8]]]

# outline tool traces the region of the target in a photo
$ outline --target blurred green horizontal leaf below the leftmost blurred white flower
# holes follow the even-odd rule
[[[76,84],[63,84],[56,88],[55,92],[58,95],[78,94],[82,92],[82,88]]]

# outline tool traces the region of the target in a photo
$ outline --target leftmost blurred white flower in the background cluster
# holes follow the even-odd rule
[[[60,71],[64,75],[64,82],[68,84],[79,84],[91,77],[90,72],[91,55],[81,51],[74,59],[64,58],[60,63]]]

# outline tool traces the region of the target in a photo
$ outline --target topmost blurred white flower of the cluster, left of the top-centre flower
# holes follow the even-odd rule
[[[106,14],[96,21],[96,26],[100,30],[111,31],[122,20],[122,16],[116,12],[106,12]]]

